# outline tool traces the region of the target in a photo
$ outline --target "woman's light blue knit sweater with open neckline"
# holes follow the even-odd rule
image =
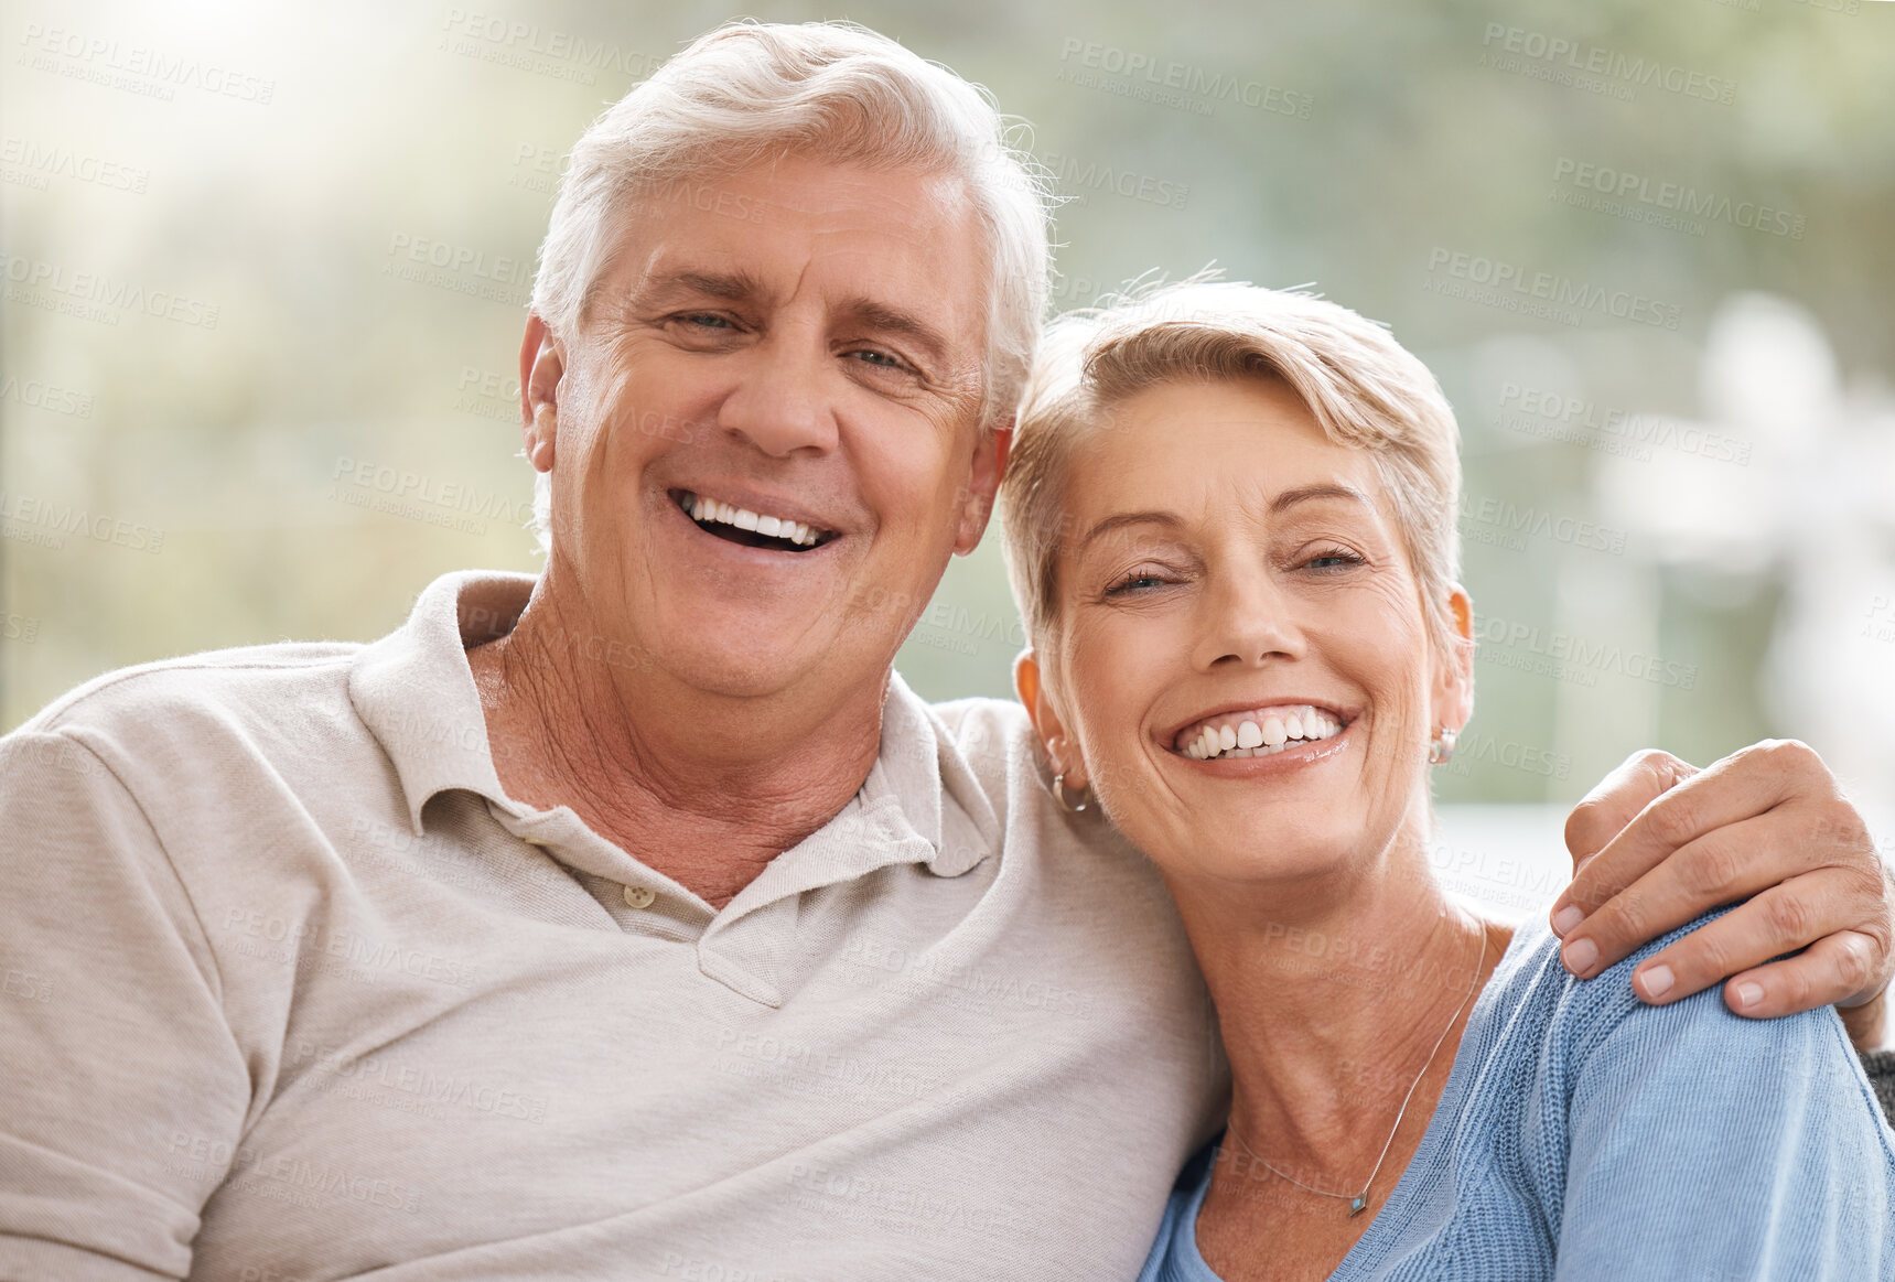
[[[1842,1021],[1740,1019],[1719,987],[1643,1006],[1632,968],[1683,934],[1579,981],[1522,926],[1332,1278],[1895,1278],[1895,1134]],[[1217,1153],[1184,1166],[1139,1282],[1218,1282],[1198,1254]]]

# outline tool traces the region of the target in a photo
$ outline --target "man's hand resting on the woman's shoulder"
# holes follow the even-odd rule
[[[1880,1045],[1895,975],[1895,875],[1823,759],[1766,740],[1700,771],[1639,752],[1565,824],[1573,884],[1554,901],[1561,960],[1592,977],[1721,903],[1749,899],[1647,958],[1633,990],[1675,1002],[1724,981],[1738,1015],[1842,1009]],[[1770,958],[1795,953],[1793,958]]]

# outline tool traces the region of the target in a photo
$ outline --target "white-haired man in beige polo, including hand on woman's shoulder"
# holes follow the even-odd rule
[[[858,28],[728,27],[606,112],[521,348],[544,574],[0,742],[0,1274],[1135,1273],[1222,1102],[1184,937],[1016,708],[891,667],[1044,282],[991,108]],[[1575,816],[1569,964],[1762,892],[1643,996],[1874,998],[1819,763],[1690,775]]]

